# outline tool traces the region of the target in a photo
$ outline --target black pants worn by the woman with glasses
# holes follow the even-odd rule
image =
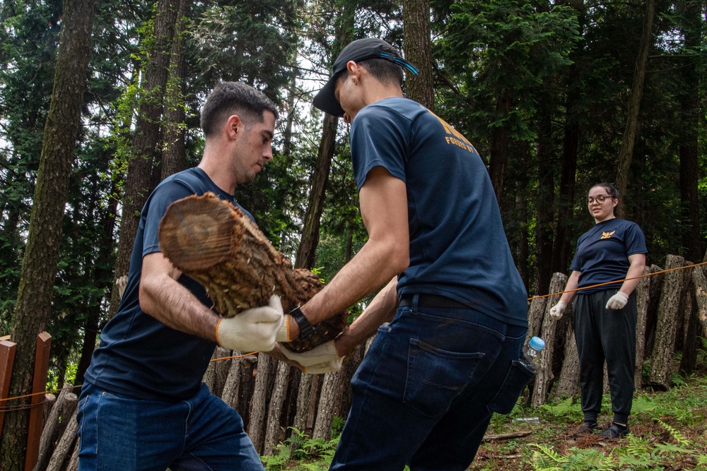
[[[633,293],[624,309],[606,309],[607,301],[614,294],[615,290],[604,290],[578,294],[575,300],[580,392],[584,419],[595,422],[602,410],[606,360],[614,422],[627,424],[633,403],[638,309]]]

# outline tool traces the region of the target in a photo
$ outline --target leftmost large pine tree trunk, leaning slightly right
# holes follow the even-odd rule
[[[11,340],[17,350],[10,396],[31,393],[37,334],[54,308],[54,278],[62,241],[62,220],[69,194],[74,149],[81,129],[95,0],[64,0],[54,90],[42,141],[32,215],[14,308]],[[27,405],[29,400],[18,401]],[[0,469],[23,470],[28,410],[5,414],[0,440]]]

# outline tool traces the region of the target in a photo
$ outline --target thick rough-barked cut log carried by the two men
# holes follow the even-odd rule
[[[288,312],[323,287],[314,273],[294,269],[242,210],[214,193],[172,203],[160,222],[159,239],[163,254],[206,287],[214,309],[224,317],[265,306],[272,294]],[[339,335],[346,317],[343,311],[317,324],[317,333],[308,340],[295,339],[285,346],[296,352],[311,350]]]

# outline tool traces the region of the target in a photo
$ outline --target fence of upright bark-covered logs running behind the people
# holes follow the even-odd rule
[[[666,261],[668,269],[687,264],[677,256],[668,256]],[[644,275],[650,276],[645,276],[636,288],[636,388],[670,388],[671,376],[679,368],[675,359],[676,345],[688,345],[689,341],[696,340],[689,338],[693,335],[691,332],[707,336],[704,266],[660,273],[663,271],[658,266],[646,268]],[[568,306],[561,321],[549,316],[549,309],[559,299],[566,280],[566,275],[555,273],[549,289],[553,294],[532,299],[529,304],[528,337],[539,335],[546,341],[537,378],[527,393],[534,407],[550,399],[578,395],[579,368],[572,306]],[[694,319],[692,327],[691,318]],[[7,398],[15,349],[13,342],[0,340],[0,400]],[[296,427],[312,438],[330,438],[334,417],[345,418],[348,414],[351,376],[365,352],[366,346],[361,345],[341,371],[305,375],[267,354],[240,356],[242,352],[218,348],[214,352],[216,361],[209,365],[204,382],[240,412],[257,451],[267,455],[276,453],[276,446],[289,436],[288,427]],[[644,362],[649,371],[645,377]],[[46,378],[46,368],[43,377]],[[39,402],[42,400],[44,397],[40,396]],[[33,438],[37,455],[28,470],[77,469],[76,403],[73,387],[65,385],[49,409],[42,433]],[[0,401],[0,427],[4,405]],[[42,408],[35,408],[41,419]]]

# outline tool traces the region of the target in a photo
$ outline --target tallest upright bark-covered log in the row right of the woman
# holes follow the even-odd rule
[[[681,266],[684,266],[684,258],[674,255],[667,256],[665,263],[667,270]],[[664,390],[670,388],[670,375],[673,372],[675,335],[681,318],[678,311],[684,291],[683,280],[681,270],[665,273],[658,303],[658,323],[655,327],[655,341],[650,357],[648,383]]]

